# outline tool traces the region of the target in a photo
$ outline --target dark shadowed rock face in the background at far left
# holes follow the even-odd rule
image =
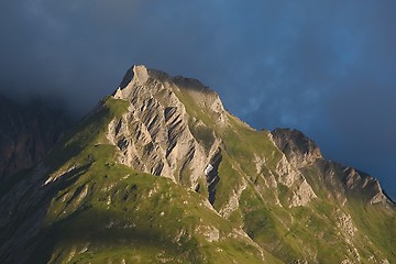
[[[69,123],[40,101],[22,106],[0,96],[0,182],[40,162]]]

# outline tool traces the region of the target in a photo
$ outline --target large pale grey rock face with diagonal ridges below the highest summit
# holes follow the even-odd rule
[[[129,112],[114,119],[107,134],[120,151],[119,162],[191,189],[200,177],[206,177],[212,202],[219,180],[213,173],[221,161],[221,141],[206,123],[197,122],[185,103],[194,100],[200,106],[198,110],[217,119],[210,121],[224,124],[227,114],[217,94],[195,79],[172,78],[158,70],[133,66],[113,97],[130,102]],[[215,169],[205,175],[209,164]]]

